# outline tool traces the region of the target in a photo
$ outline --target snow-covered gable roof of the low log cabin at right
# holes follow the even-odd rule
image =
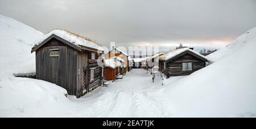
[[[168,52],[162,56],[159,56],[159,60],[169,60],[169,59],[172,59],[173,57],[185,52],[185,51],[189,51],[193,54],[195,54],[196,56],[199,56],[205,60],[208,60],[207,57],[201,55],[200,53],[197,53],[196,51],[193,51],[192,49],[189,49],[189,48],[180,48],[180,49],[176,49],[174,51],[171,51],[171,52]]]

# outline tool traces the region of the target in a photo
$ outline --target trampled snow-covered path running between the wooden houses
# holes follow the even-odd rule
[[[156,79],[160,80],[159,77]],[[142,69],[134,69],[122,80],[110,82],[80,99],[72,99],[73,106],[66,116],[78,117],[165,117],[171,113],[164,110],[161,102],[150,93],[161,85],[152,83],[151,75]]]

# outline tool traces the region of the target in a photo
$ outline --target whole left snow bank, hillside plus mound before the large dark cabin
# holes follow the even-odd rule
[[[13,73],[35,72],[31,47],[42,32],[0,15],[0,117],[63,116],[70,106],[67,91],[49,82],[16,78]],[[53,105],[58,106],[53,106]]]

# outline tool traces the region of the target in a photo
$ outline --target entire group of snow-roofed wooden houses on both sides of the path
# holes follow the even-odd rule
[[[69,95],[89,93],[105,80],[122,78],[134,67],[127,53],[113,47],[108,53],[90,39],[64,30],[53,30],[31,50],[36,53],[36,78],[59,85]],[[208,60],[189,48],[157,53],[136,60],[138,68],[154,69],[170,76],[187,75],[201,69]],[[134,67],[135,68],[135,67]]]

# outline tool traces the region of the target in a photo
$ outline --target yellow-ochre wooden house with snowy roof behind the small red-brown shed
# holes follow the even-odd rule
[[[133,59],[131,59],[130,55],[121,51],[118,48],[113,47],[108,53],[105,55],[105,59],[111,59],[113,57],[120,57],[124,60],[123,67],[125,69],[125,73],[129,72],[133,66]]]

